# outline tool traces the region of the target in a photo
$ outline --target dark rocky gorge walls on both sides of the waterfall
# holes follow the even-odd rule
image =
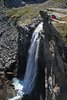
[[[39,73],[34,90],[30,96],[25,96],[24,100],[39,100],[40,95],[42,96],[43,100],[45,99],[45,68],[47,68],[47,80],[51,76],[52,68],[56,79],[56,83],[53,87],[55,87],[56,84],[61,87],[59,100],[62,100],[62,96],[65,95],[62,92],[62,87],[65,88],[67,86],[67,47],[65,47],[62,37],[49,20],[47,13],[40,11],[40,14],[42,18],[36,20],[30,25],[22,27],[17,24],[16,18],[8,19],[4,14],[3,7],[0,7],[0,78],[2,80],[0,82],[0,87],[2,87],[0,88],[2,92],[0,93],[0,98],[2,98],[1,100],[7,100],[9,95],[12,95],[12,93],[9,94],[8,92],[14,91],[10,86],[11,83],[8,82],[8,79],[11,79],[14,76],[17,76],[18,78],[22,78],[21,76],[24,77],[31,36],[41,21],[43,21],[44,30],[40,33],[41,42],[38,59]],[[2,73],[3,70],[5,70],[5,73]],[[49,83],[47,82],[47,84]],[[11,87],[11,89],[8,91],[9,87]],[[6,98],[4,98],[4,88],[7,89]],[[66,93],[66,90],[64,91]],[[48,99],[49,97],[52,97],[50,93],[48,93]]]

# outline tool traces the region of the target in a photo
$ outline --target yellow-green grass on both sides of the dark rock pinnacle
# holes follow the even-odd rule
[[[6,10],[6,15],[11,17],[18,17],[18,22],[21,24],[29,24],[35,18],[39,16],[39,11],[44,10],[49,7],[57,7],[57,4],[64,2],[64,0],[49,0],[50,3],[40,3],[40,4],[26,4],[24,7],[12,8]],[[67,17],[62,20],[67,21]],[[57,29],[60,31],[64,37],[67,34],[67,24],[56,24]],[[65,40],[66,42],[66,40]]]

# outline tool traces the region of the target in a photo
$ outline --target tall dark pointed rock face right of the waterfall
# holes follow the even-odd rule
[[[43,18],[43,29],[44,32],[42,34],[45,35],[43,39],[43,55],[44,55],[44,68],[47,68],[47,84],[49,77],[52,74],[55,76],[55,82],[51,79],[55,86],[58,84],[62,89],[62,86],[66,87],[66,73],[65,73],[65,63],[66,59],[66,47],[64,42],[62,41],[61,35],[57,32],[57,30],[53,27],[50,17],[47,12],[40,11],[41,17]],[[46,88],[45,88],[46,89]],[[48,90],[49,91],[49,90]],[[64,91],[65,93],[65,91]],[[50,93],[47,94],[47,98],[52,98]],[[62,93],[60,91],[60,98],[62,97]]]

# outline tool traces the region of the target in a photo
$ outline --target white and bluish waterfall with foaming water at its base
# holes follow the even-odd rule
[[[24,79],[13,79],[13,85],[15,90],[17,90],[17,95],[8,100],[21,100],[23,95],[29,95],[35,86],[38,72],[38,52],[40,44],[39,33],[41,30],[43,30],[43,22],[41,22],[33,32]]]

